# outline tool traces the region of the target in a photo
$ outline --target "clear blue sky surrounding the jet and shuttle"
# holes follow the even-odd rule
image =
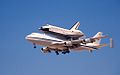
[[[46,23],[69,29],[77,21],[88,37],[108,34],[114,48],[57,56],[25,40]],[[0,0],[0,75],[120,75],[119,38],[120,0]]]

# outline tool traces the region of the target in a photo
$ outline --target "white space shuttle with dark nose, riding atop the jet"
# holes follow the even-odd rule
[[[43,31],[44,33],[51,33],[56,35],[59,34],[67,37],[81,37],[84,36],[84,33],[78,30],[79,26],[80,26],[80,22],[76,22],[70,29],[64,29],[61,27],[46,24],[41,28],[39,28],[39,30]]]

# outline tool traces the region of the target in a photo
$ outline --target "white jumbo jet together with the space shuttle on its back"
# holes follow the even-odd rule
[[[101,39],[107,38],[107,35],[102,35],[102,32],[98,32],[93,37],[83,38],[83,36],[85,35],[80,30],[77,30],[78,26],[79,22],[73,25],[70,30],[52,25],[42,26],[40,30],[42,30],[43,33],[31,33],[27,35],[25,39],[33,43],[34,48],[36,48],[36,45],[44,46],[43,48],[41,48],[43,53],[51,53],[52,51],[54,51],[56,55],[59,55],[60,52],[62,54],[67,54],[70,53],[70,51],[81,50],[88,50],[89,52],[92,52],[93,50],[97,50],[101,47],[108,46],[108,44],[100,44]],[[60,31],[68,32],[61,33]],[[72,35],[71,31],[73,32]],[[77,36],[76,33],[80,34],[81,36]],[[77,39],[75,37],[77,37]]]

